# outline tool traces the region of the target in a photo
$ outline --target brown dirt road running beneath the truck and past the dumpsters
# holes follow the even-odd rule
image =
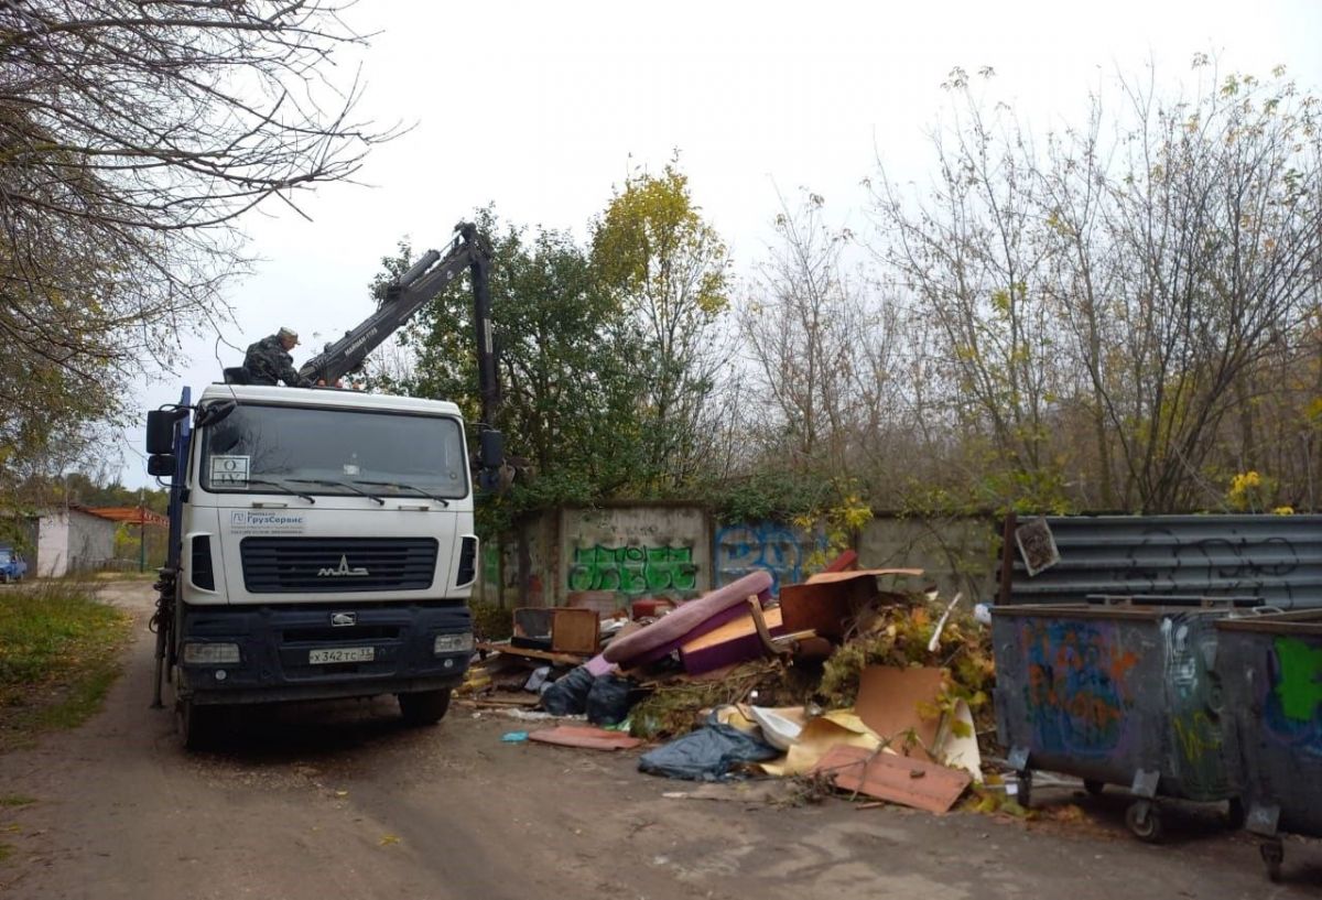
[[[148,708],[147,585],[103,596],[139,620],[104,712],[0,757],[0,797],[37,798],[0,806],[7,897],[1257,900],[1322,884],[1318,844],[1289,842],[1290,881],[1272,885],[1255,846],[1206,817],[1140,844],[1118,796],[1058,789],[1087,821],[1027,826],[785,807],[763,801],[775,784],[698,788],[637,773],[635,755],[502,744],[526,724],[457,704],[420,731],[386,700],[254,711],[223,748],[186,755]]]

